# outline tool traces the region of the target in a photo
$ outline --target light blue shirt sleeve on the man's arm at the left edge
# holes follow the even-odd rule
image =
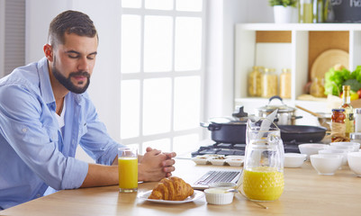
[[[17,155],[52,188],[77,188],[88,165],[59,152],[53,118],[41,95],[23,85],[8,85],[0,93],[0,132]]]

